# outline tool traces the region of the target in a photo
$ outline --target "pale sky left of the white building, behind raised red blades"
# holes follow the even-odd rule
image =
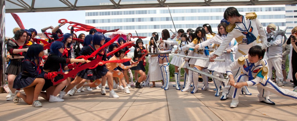
[[[37,33],[41,33],[41,29],[53,26],[56,27],[59,25],[58,21],[60,19],[67,19],[68,21],[83,23],[86,24],[85,15],[86,12],[82,11],[60,11],[60,12],[26,12],[26,13],[15,13],[20,17],[25,29],[34,28]],[[67,29],[69,23],[66,23],[60,29],[63,33],[69,33],[70,30]],[[12,29],[19,27],[18,24],[13,19],[10,13],[5,14],[5,36],[13,37]],[[70,27],[69,27],[70,28]],[[51,31],[48,29],[47,31]],[[84,31],[78,31],[75,34],[79,35],[80,33],[89,33]]]

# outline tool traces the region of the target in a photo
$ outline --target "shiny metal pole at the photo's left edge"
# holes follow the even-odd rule
[[[5,0],[0,0],[0,86],[5,84]],[[2,92],[0,92],[2,93]]]

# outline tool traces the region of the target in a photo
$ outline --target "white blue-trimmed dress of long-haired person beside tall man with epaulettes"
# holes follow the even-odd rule
[[[220,44],[222,44],[222,42],[224,41],[226,35],[222,34],[221,36],[219,36],[219,34],[216,34],[213,38],[208,39],[205,42],[199,43],[199,47],[205,47],[209,44],[213,44],[214,45],[214,49],[217,49]],[[233,38],[232,41],[228,44],[226,50],[231,49],[233,52],[236,52],[237,50],[237,42],[236,40]],[[212,55],[213,53],[211,53],[210,55]],[[235,54],[231,54],[231,53],[224,53],[221,56],[217,57],[216,59],[225,59],[225,62],[219,62],[219,61],[215,61],[213,63],[210,63],[208,66],[208,70],[212,70],[212,71],[217,71],[219,73],[226,73],[226,68],[227,66],[229,66],[232,62],[235,61]]]

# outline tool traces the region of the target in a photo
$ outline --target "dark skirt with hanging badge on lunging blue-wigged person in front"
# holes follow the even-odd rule
[[[89,72],[91,71],[93,75],[88,76],[88,71]],[[103,66],[97,66],[95,69],[85,69],[83,71],[80,71],[77,73],[77,76],[83,79],[96,80],[105,76],[107,74],[107,71],[108,70],[106,69],[105,65],[103,65]]]

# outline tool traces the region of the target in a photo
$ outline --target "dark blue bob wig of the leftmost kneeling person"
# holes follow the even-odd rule
[[[34,62],[35,59],[38,60],[38,63],[35,63],[37,65],[39,65],[39,53],[43,51],[43,46],[40,44],[32,44],[31,46],[29,46],[29,49],[25,55],[24,60],[29,60]]]

